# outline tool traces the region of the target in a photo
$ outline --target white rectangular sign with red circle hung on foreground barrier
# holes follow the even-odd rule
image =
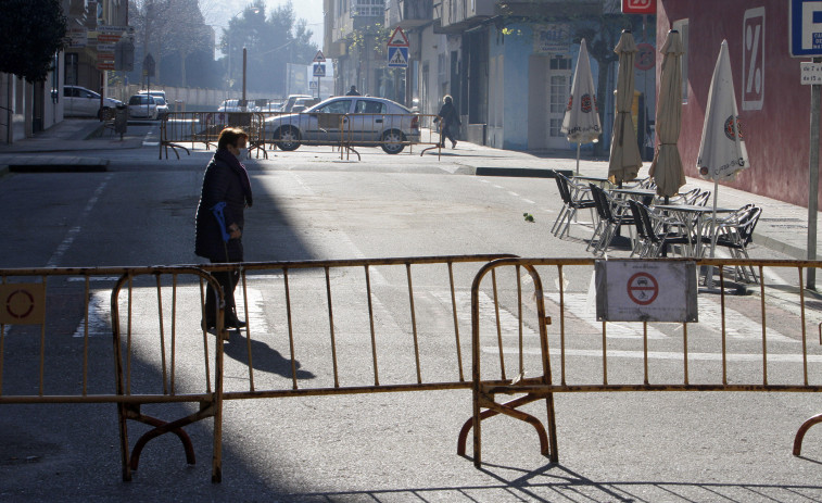
[[[696,263],[596,261],[596,317],[605,322],[697,322]]]

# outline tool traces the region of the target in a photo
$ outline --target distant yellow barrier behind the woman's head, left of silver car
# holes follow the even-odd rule
[[[219,133],[226,127],[241,127],[249,135],[249,150],[260,158],[262,152],[268,159],[265,142],[265,120],[271,114],[256,112],[170,112],[160,123],[160,159],[168,149],[180,159],[177,149],[190,154],[182,143],[198,144],[208,150],[217,147]]]

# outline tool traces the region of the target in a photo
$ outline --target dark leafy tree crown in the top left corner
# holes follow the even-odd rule
[[[3,0],[0,72],[46,80],[63,48],[66,21],[60,0]]]

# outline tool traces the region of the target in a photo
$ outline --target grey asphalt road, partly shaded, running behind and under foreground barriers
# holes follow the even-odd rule
[[[111,159],[105,173],[14,174],[0,179],[0,200],[7,209],[0,223],[4,237],[0,263],[4,267],[199,263],[192,252],[193,214],[202,168],[211,154],[198,151],[184,153],[180,161],[157,161],[155,141],[156,128],[144,126],[143,149],[96,152]],[[351,162],[340,160],[330,148],[301,148],[249,161],[255,202],[246,213],[246,260],[476,253],[587,256],[590,229],[574,226],[565,240],[549,234],[561,204],[553,179],[475,176],[478,166],[517,166],[520,160],[501,151],[457,152],[447,151],[437,160],[363,149],[363,161]],[[551,167],[552,162],[544,164]],[[532,214],[534,222],[527,222],[523,213]],[[754,251],[777,257],[767,249]],[[625,243],[614,256],[629,253]],[[476,269],[455,268],[457,324],[468,375],[469,288]],[[556,273],[540,271],[556,318]],[[780,278],[787,275],[779,271],[767,274],[775,286],[787,280]],[[323,271],[291,278],[295,355],[305,388],[333,382],[330,327],[340,344],[337,357],[343,385],[372,377],[362,271],[332,269],[330,278],[332,324]],[[509,373],[518,368],[516,359],[510,360],[518,344],[514,280],[510,274],[499,278]],[[565,280],[567,343],[573,350],[568,377],[595,380],[602,367],[592,351],[602,343],[602,327],[591,307],[591,269],[569,268]],[[371,281],[382,379],[413,380],[406,271],[378,267]],[[110,282],[101,279],[92,286],[98,301],[92,302],[88,343],[97,356],[92,369],[101,376],[90,383],[97,390],[111,386],[105,374],[111,361],[111,341],[105,337]],[[245,316],[252,340],[233,334],[227,343],[227,390],[246,389],[249,367],[258,387],[288,388],[283,282],[281,271],[250,274]],[[529,286],[524,280],[526,291]],[[146,304],[135,316],[135,344],[150,348],[156,343],[156,315],[146,305],[153,292],[139,287],[136,297]],[[62,281],[55,288],[63,297],[53,306],[60,323],[49,334],[55,341],[46,355],[48,377],[64,380],[55,386],[71,390],[78,380],[72,364],[78,362],[85,341],[83,307],[75,300],[81,286]],[[414,290],[423,379],[454,379],[457,363],[447,272],[415,268]],[[493,290],[485,285],[483,292],[490,302]],[[179,297],[186,306],[195,304],[198,287],[184,284]],[[734,351],[753,353],[761,344],[759,299],[748,295],[735,302],[728,315]],[[483,305],[483,362],[495,362],[497,335],[489,304]],[[776,353],[795,349],[796,331],[788,326],[795,312],[779,301],[770,307],[769,348]],[[716,322],[719,310],[716,295],[700,297],[705,323],[688,328],[691,351],[706,355],[694,356],[696,380],[717,376],[711,355],[718,352],[718,332],[710,322]],[[533,304],[526,301],[524,312],[524,367],[533,375],[540,365]],[[197,309],[180,310],[177,379],[184,388],[195,388],[202,374],[199,318]],[[549,334],[552,344],[557,343],[556,322]],[[641,378],[642,326],[621,324],[608,334],[609,350],[621,354],[611,361],[611,380]],[[675,379],[681,373],[667,356],[675,354],[681,336],[679,326],[652,325],[654,379]],[[37,337],[37,331],[18,327],[4,334],[7,393],[30,386]],[[252,365],[248,365],[249,347]],[[136,356],[139,382],[135,386],[161,379],[156,354],[138,349]],[[773,379],[788,379],[787,363],[773,365]],[[749,362],[731,366],[736,379],[757,378],[757,367]],[[489,367],[496,369],[493,363]],[[791,454],[798,425],[819,413],[819,400],[810,393],[568,393],[557,397],[556,405],[559,464],[540,455],[530,426],[494,418],[483,423],[485,465],[476,469],[470,458],[456,454],[457,432],[471,413],[468,390],[229,401],[220,485],[208,481],[211,422],[189,428],[197,465],[186,466],[177,439],[160,438],[149,443],[135,480],[122,482],[113,405],[4,405],[0,407],[0,500],[822,501],[822,429],[808,433],[801,457]],[[174,416],[188,407],[159,410]],[[526,410],[539,417],[545,414],[544,405]],[[132,435],[131,441],[136,438]]]

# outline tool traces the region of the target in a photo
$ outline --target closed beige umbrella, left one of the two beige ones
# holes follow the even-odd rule
[[[636,143],[636,131],[631,118],[636,43],[630,30],[622,30],[622,36],[614,52],[619,54],[619,76],[617,77],[617,116],[614,120],[608,178],[615,184],[621,184],[636,178],[642,167],[640,146]]]

